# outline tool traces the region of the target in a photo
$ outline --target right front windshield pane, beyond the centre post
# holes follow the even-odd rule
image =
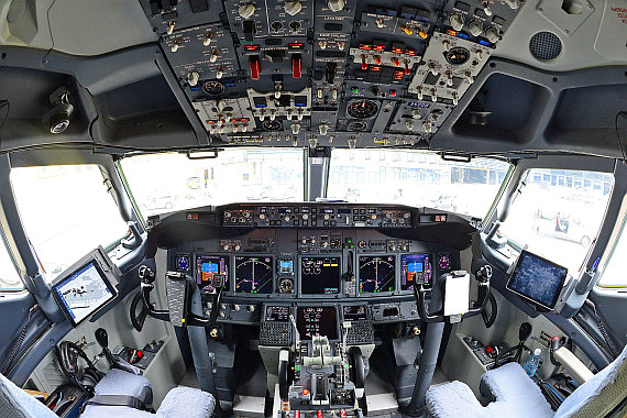
[[[363,204],[427,206],[483,219],[509,164],[450,162],[406,150],[334,150],[327,197]]]

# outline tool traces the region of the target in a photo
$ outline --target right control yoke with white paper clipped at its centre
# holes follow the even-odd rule
[[[447,279],[453,279],[466,275],[465,271],[457,271],[441,275],[438,277],[433,287],[426,288],[425,284],[420,286],[414,286],[414,296],[416,297],[416,302],[418,305],[418,312],[420,318],[425,322],[446,322],[447,319],[451,322],[458,322],[453,319],[454,316],[444,315],[444,287]],[[477,280],[479,286],[479,299],[472,304],[468,312],[463,314],[464,318],[474,317],[483,311],[487,299],[490,298],[490,279],[492,277],[492,266],[490,264],[483,264],[481,267],[475,270],[474,277]],[[470,300],[469,300],[470,305]],[[432,307],[436,307],[436,311],[431,312]]]

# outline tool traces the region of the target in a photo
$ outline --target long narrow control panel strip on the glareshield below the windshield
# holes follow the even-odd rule
[[[224,227],[411,228],[414,218],[410,208],[268,205],[228,207],[224,208],[221,219]],[[338,242],[337,239],[332,241],[329,238],[324,243],[331,248],[331,244]]]

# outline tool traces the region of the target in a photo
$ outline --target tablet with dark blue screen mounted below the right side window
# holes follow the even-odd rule
[[[522,251],[507,282],[507,288],[547,309],[553,309],[568,270],[528,251]]]

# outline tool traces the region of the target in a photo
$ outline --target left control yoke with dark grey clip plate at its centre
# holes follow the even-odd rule
[[[213,327],[216,323],[221,286],[213,295],[211,316],[209,318],[191,312],[189,307],[194,283],[190,277],[179,272],[166,273],[167,310],[157,310],[151,304],[151,292],[154,289],[156,274],[147,266],[142,265],[139,270],[142,282],[142,298],[147,308],[148,315],[162,321],[172,322],[176,327]]]

